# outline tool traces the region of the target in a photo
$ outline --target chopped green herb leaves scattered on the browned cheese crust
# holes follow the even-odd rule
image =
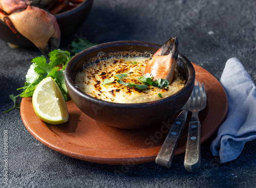
[[[148,73],[143,75],[142,77],[138,78],[138,80],[142,84],[127,83],[127,82],[122,81],[122,79],[127,77],[127,76],[129,76],[129,74],[127,74],[127,73],[115,75],[115,77],[118,78],[118,80],[117,80],[118,83],[120,83],[122,85],[129,86],[129,87],[135,87],[139,90],[147,89],[148,88],[147,85],[152,85],[154,87],[160,87],[162,89],[162,88],[167,88],[168,85],[170,84],[168,80],[165,80],[165,79],[162,79],[162,78],[161,79],[156,79],[155,81],[153,81],[153,75],[148,74]],[[104,79],[102,85],[111,84],[113,82],[114,81],[112,81],[112,80]]]

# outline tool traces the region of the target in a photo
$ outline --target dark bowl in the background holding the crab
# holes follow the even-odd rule
[[[84,0],[77,7],[71,10],[54,15],[57,19],[60,28],[61,37],[67,37],[73,34],[78,28],[81,27],[81,25],[90,13],[92,5],[93,0]],[[17,37],[6,25],[6,23],[0,19],[0,39],[18,46],[35,46],[30,40],[25,38],[23,35],[21,35],[20,33],[18,34],[19,37]]]

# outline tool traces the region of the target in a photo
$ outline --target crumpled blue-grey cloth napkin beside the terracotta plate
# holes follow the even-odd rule
[[[228,114],[210,149],[221,162],[228,162],[256,138],[256,87],[237,58],[226,62],[220,82],[227,93]]]

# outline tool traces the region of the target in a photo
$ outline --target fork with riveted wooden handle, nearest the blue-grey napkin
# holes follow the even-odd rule
[[[192,112],[190,122],[188,124],[187,145],[185,151],[184,167],[190,172],[195,172],[201,165],[200,139],[201,124],[198,113],[206,107],[207,97],[202,87],[194,86],[193,92],[187,101],[187,109]]]

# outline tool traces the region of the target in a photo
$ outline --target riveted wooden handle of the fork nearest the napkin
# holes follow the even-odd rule
[[[200,130],[199,121],[189,122],[184,167],[190,172],[196,171],[201,165]]]

